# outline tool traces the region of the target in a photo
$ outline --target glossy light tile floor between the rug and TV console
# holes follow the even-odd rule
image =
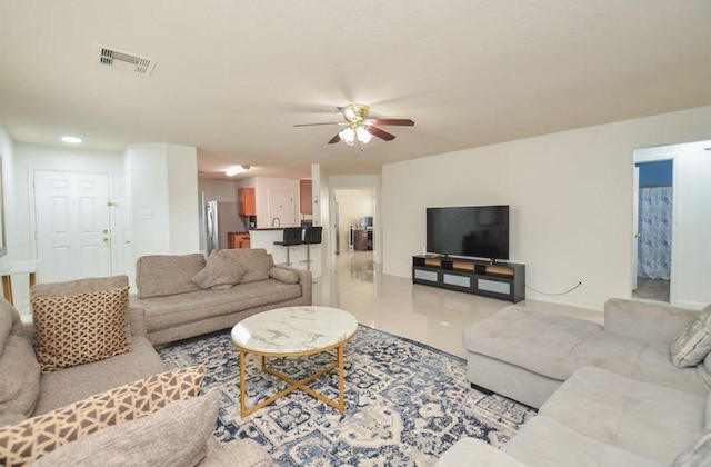
[[[465,357],[462,332],[509,301],[413,285],[409,278],[383,275],[372,252],[339,255],[313,286],[313,304],[342,308],[364,326],[413,339]],[[518,306],[602,322],[602,314],[541,301]]]

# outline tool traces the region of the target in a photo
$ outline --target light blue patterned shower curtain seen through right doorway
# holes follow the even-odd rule
[[[672,187],[640,189],[638,276],[669,280]]]

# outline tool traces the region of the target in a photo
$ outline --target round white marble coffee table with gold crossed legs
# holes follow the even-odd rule
[[[262,311],[237,324],[232,328],[232,341],[240,351],[241,416],[247,417],[296,389],[301,389],[339,411],[343,411],[346,408],[343,346],[356,335],[357,329],[358,320],[348,311],[314,306]],[[336,362],[300,381],[268,367],[266,361],[267,357],[303,357],[332,349],[337,350]],[[244,360],[248,352],[261,356],[262,370],[290,385],[287,389],[250,408],[247,407],[244,385]],[[338,369],[339,374],[338,401],[329,399],[307,386],[332,369]]]

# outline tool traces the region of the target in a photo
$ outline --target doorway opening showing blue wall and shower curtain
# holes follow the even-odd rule
[[[632,296],[670,301],[674,160],[635,163],[637,234]]]

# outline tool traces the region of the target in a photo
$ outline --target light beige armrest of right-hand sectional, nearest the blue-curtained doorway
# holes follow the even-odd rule
[[[648,342],[671,344],[699,311],[669,304],[611,298],[604,304],[604,330]]]

